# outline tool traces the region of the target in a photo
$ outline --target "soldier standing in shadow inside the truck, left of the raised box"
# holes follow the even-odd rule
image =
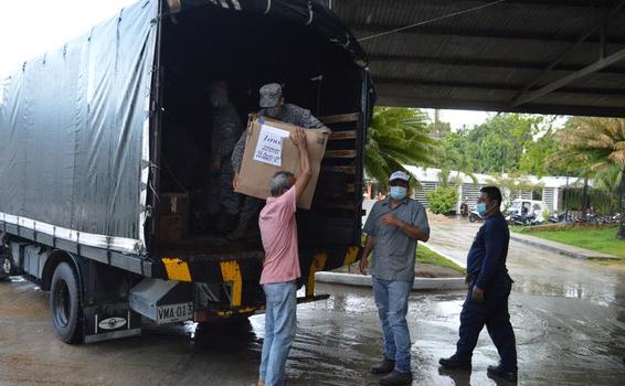
[[[216,233],[227,233],[239,215],[240,197],[232,189],[234,171],[231,154],[243,126],[236,108],[229,100],[226,83],[211,84],[210,95],[215,111],[211,128],[209,224]]]

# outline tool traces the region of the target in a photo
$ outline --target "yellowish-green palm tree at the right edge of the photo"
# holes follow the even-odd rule
[[[571,118],[561,137],[564,157],[602,173],[612,168],[625,172],[625,119]],[[582,168],[582,169],[586,169]],[[625,240],[625,179],[621,179],[621,224],[618,239]]]

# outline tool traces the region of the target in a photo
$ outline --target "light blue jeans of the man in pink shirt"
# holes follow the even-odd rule
[[[297,288],[295,281],[264,285],[265,340],[261,360],[261,378],[266,386],[284,384],[284,368],[295,339]]]

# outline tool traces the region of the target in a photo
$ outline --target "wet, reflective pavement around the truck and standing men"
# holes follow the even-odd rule
[[[434,223],[431,243],[463,262],[477,230]],[[625,380],[625,269],[511,243],[510,312],[522,385],[622,385]],[[375,385],[380,328],[371,290],[319,285],[330,299],[298,309],[288,385]],[[496,385],[498,355],[486,331],[472,373],[441,374],[454,352],[464,292],[414,292],[409,324],[414,385]],[[52,332],[47,294],[13,278],[0,283],[0,385],[252,385],[263,317],[235,325],[174,325],[140,337],[71,346]],[[499,383],[505,385],[506,383]]]

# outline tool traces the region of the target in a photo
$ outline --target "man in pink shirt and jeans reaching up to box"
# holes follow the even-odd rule
[[[299,178],[290,172],[277,172],[269,183],[272,196],[258,226],[265,249],[261,285],[265,290],[265,340],[261,360],[261,386],[282,386],[284,369],[296,329],[299,254],[297,250],[296,204],[310,182],[310,159],[306,135],[298,128],[290,140],[299,151]]]

